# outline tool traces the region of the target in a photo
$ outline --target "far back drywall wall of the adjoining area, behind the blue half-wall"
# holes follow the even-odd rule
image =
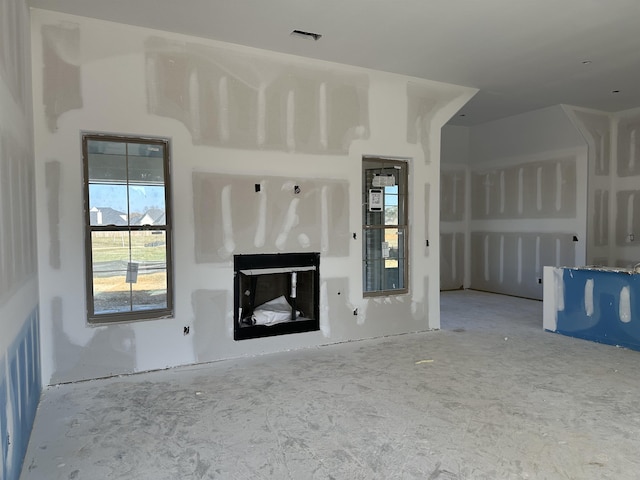
[[[470,142],[470,286],[541,299],[544,266],[585,261],[586,142],[561,106],[472,127]]]

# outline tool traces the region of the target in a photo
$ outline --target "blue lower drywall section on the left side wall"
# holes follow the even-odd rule
[[[40,330],[37,308],[0,358],[0,478],[17,480],[40,401]]]

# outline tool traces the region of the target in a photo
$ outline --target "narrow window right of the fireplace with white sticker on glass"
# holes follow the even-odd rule
[[[407,163],[364,157],[362,185],[364,295],[407,293]]]

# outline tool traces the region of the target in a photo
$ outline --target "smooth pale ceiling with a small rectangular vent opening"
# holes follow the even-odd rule
[[[640,106],[640,0],[28,0],[480,89],[451,124]],[[317,41],[290,35],[319,33]]]

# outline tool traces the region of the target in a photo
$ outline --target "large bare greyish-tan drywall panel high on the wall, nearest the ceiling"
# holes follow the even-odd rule
[[[161,37],[145,48],[150,111],[181,121],[196,144],[345,154],[369,136],[361,73],[228,56]]]

